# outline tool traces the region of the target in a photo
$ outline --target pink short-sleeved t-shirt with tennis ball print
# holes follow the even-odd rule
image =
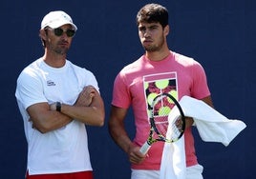
[[[150,101],[150,95],[163,91],[173,92],[179,100],[183,95],[197,99],[210,95],[203,67],[194,59],[172,51],[159,62],[150,61],[143,55],[118,73],[112,105],[123,109],[132,106],[136,123],[136,145],[142,146],[149,134],[147,102]],[[196,165],[198,161],[191,128],[185,130],[184,137],[186,165]],[[141,164],[132,165],[132,169],[160,169],[163,144],[153,144],[148,157]]]

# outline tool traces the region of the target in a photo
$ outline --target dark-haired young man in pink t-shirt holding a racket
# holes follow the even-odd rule
[[[132,179],[159,179],[164,143],[155,143],[146,155],[139,152],[150,129],[148,95],[152,91],[159,94],[167,90],[175,92],[178,100],[188,95],[201,99],[210,106],[212,101],[206,75],[200,63],[168,48],[168,10],[158,4],[145,5],[138,12],[137,23],[145,54],[117,74],[109,130],[117,145],[129,156]],[[157,85],[163,81],[167,85]],[[124,119],[130,107],[133,109],[136,125],[136,136],[133,140],[128,137],[124,128]],[[184,140],[187,173],[190,173],[186,178],[201,179],[203,167],[197,161],[192,124],[193,119],[186,117]]]

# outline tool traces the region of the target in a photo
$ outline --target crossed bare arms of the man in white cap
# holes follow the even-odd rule
[[[73,120],[86,125],[101,127],[104,124],[104,103],[98,91],[92,86],[85,87],[79,94],[75,105],[61,104],[61,111],[56,111],[56,104],[34,104],[27,109],[32,126],[45,133],[60,129]]]

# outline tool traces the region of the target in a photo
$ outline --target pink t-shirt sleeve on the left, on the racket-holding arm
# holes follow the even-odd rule
[[[128,109],[131,104],[130,92],[125,76],[120,72],[114,82],[112,105]]]

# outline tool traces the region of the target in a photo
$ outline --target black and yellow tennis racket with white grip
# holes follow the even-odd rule
[[[139,149],[146,154],[152,144],[158,141],[173,143],[184,133],[185,116],[179,102],[169,93],[157,95],[150,106],[150,131],[147,141]],[[172,114],[170,115],[170,111]],[[168,121],[169,116],[169,121]],[[167,133],[167,129],[168,134]]]

